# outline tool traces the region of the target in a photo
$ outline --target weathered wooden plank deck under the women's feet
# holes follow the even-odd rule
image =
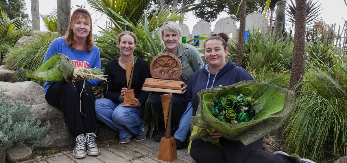
[[[105,142],[103,142],[105,143]],[[98,143],[99,145],[99,143]],[[158,160],[160,142],[154,142],[151,138],[136,142],[133,139],[126,144],[107,143],[99,146],[101,154],[89,156],[82,159],[75,159],[72,151],[58,153],[54,156],[40,158],[41,160],[28,160],[26,162],[36,163],[158,163],[166,162]],[[188,154],[188,148],[177,148],[177,159],[172,163],[195,163]]]

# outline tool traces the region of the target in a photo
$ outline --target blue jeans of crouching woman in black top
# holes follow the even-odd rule
[[[142,133],[143,120],[139,117],[144,111],[141,107],[123,107],[123,103],[113,103],[110,99],[100,98],[95,101],[96,118],[125,138],[130,132]]]

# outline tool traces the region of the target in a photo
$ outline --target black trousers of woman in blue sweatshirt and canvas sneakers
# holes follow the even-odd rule
[[[64,113],[73,136],[96,130],[95,96],[89,81],[53,83],[45,98],[48,104],[60,108]]]

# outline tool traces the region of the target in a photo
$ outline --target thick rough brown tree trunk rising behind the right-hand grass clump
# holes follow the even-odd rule
[[[294,90],[295,97],[300,95],[305,76],[305,29],[306,0],[296,0],[294,28],[293,65],[291,67],[289,89]]]

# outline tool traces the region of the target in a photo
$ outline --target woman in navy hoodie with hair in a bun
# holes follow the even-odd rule
[[[205,58],[208,62],[204,68],[196,71],[190,78],[186,92],[186,106],[193,107],[192,114],[196,114],[199,105],[197,93],[206,88],[215,86],[228,86],[243,80],[254,80],[248,72],[242,67],[236,66],[228,61],[227,41],[228,36],[225,33],[212,35],[205,41]],[[206,85],[204,85],[206,83]],[[197,162],[217,162],[217,163],[299,163],[296,157],[290,157],[285,152],[270,153],[262,150],[263,138],[244,146],[240,141],[230,141],[223,138],[218,132],[210,134],[213,138],[219,138],[223,148],[204,142],[198,138],[191,147],[191,156]],[[310,163],[311,160],[305,159]]]

